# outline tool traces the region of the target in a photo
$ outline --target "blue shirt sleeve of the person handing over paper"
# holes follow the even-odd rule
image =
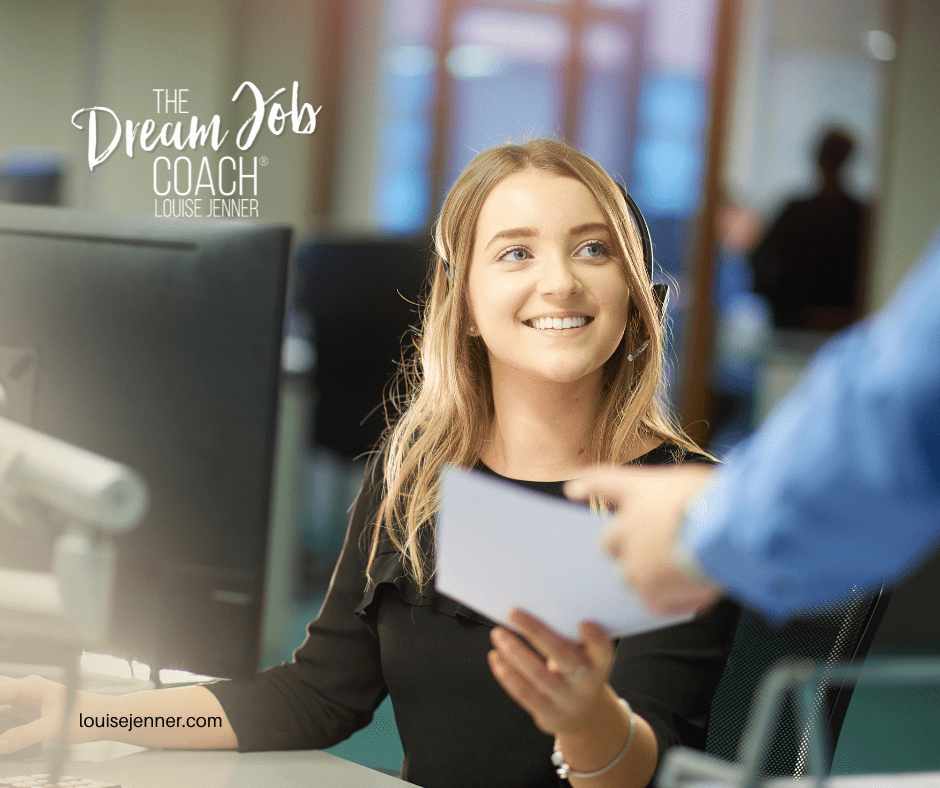
[[[906,573],[940,539],[940,236],[692,506],[682,544],[775,618]]]

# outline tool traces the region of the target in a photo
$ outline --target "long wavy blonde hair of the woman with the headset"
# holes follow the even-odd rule
[[[438,471],[444,463],[473,466],[493,418],[486,347],[467,333],[467,274],[477,217],[492,188],[527,169],[583,183],[607,220],[614,253],[630,292],[623,341],[606,362],[600,408],[591,434],[593,462],[623,463],[638,440],[698,447],[676,425],[663,393],[665,331],[643,260],[639,232],[616,182],[593,160],[563,142],[535,139],[498,145],[478,154],[454,183],[434,231],[429,293],[415,352],[402,369],[395,405],[400,412],[385,436],[382,501],[371,541],[367,575],[382,531],[401,552],[405,572],[419,589],[433,575]],[[446,261],[446,262],[445,262]],[[448,270],[449,269],[449,270]],[[625,348],[649,347],[630,362]]]

